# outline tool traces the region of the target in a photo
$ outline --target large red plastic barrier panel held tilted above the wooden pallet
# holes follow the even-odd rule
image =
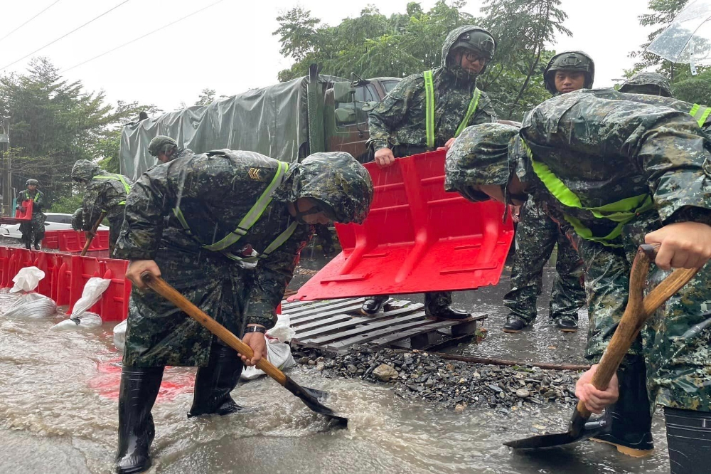
[[[444,191],[444,151],[366,164],[375,185],[362,225],[336,224],[343,252],[289,300],[469,290],[496,285],[513,240],[494,201]]]

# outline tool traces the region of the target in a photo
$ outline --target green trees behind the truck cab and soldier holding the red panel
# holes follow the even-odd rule
[[[406,12],[387,17],[367,6],[356,18],[328,26],[299,7],[277,17],[282,55],[294,58],[291,68],[279,72],[287,81],[307,75],[318,63],[321,72],[344,78],[402,78],[442,63],[444,37],[457,26],[479,24],[498,38],[497,56],[479,80],[503,118],[520,119],[547,99],[542,68],[552,53],[545,43],[557,34],[570,35],[562,26],[566,14],[560,0],[486,0],[485,18],[461,11],[464,0],[440,0],[429,11],[412,1]]]

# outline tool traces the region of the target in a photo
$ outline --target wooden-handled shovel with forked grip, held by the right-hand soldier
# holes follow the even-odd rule
[[[644,281],[647,278],[649,263],[656,255],[657,250],[658,246],[639,246],[629,275],[627,307],[592,378],[592,384],[596,389],[604,390],[607,387],[646,320],[699,271],[698,268],[677,268],[662,283],[651,290],[646,298],[643,298]],[[583,402],[578,401],[567,433],[531,436],[517,441],[509,441],[504,445],[515,449],[552,448],[592,438],[602,431],[606,431],[609,418],[588,422],[590,415],[591,413],[585,408]]]

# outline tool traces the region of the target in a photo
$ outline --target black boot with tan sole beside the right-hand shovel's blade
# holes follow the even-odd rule
[[[646,369],[641,359],[617,371],[619,399],[607,410],[611,414],[611,431],[591,438],[615,446],[617,451],[639,458],[651,454],[652,416],[647,398]]]

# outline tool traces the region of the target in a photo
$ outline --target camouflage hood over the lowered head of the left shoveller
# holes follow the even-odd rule
[[[289,165],[284,184],[274,199],[295,202],[300,198],[320,201],[333,221],[362,223],[373,202],[373,181],[368,170],[346,152],[310,154]]]

